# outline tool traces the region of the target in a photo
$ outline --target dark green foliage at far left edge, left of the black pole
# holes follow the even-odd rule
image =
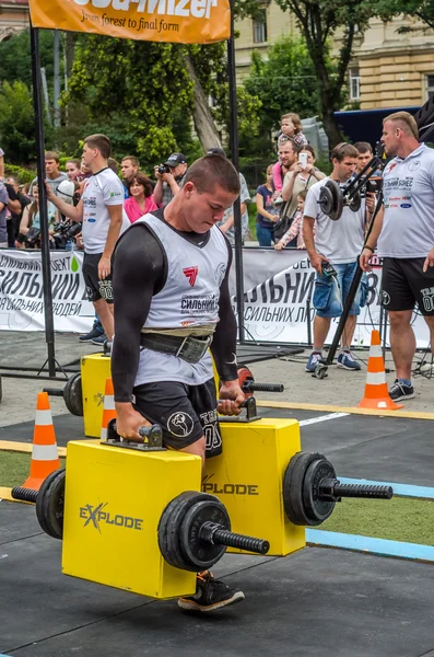
[[[45,130],[49,143],[49,126]],[[32,94],[24,82],[3,82],[0,87],[0,143],[12,164],[27,164],[36,157]]]

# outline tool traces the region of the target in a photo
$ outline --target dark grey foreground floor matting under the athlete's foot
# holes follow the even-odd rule
[[[305,548],[225,555],[246,600],[210,615],[66,577],[31,506],[0,503],[0,650],[11,657],[420,657],[432,655],[434,568]],[[137,558],[137,568],[146,567]]]

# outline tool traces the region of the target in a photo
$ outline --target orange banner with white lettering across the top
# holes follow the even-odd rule
[[[209,44],[230,38],[228,0],[30,0],[34,27]]]

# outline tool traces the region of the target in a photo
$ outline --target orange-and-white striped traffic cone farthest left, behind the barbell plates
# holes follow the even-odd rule
[[[39,491],[43,481],[58,468],[60,461],[48,393],[39,392],[36,402],[31,473],[22,487]]]

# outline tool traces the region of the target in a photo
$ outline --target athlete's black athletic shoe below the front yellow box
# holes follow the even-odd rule
[[[214,579],[209,570],[198,573],[196,593],[179,598],[178,604],[188,611],[214,611],[244,600],[243,591],[230,588],[224,581]]]

